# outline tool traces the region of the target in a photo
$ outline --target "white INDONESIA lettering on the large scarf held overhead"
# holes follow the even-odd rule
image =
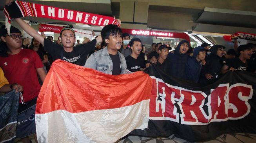
[[[59,9],[57,7],[49,7],[42,5],[41,7],[42,15],[47,15],[49,17],[58,18],[58,19],[69,19],[76,22],[84,22],[87,24],[98,24],[98,25],[108,25],[109,20],[103,20],[103,18],[98,18],[98,16],[91,16],[90,14],[85,14],[76,11],[67,11],[65,13],[64,9]]]

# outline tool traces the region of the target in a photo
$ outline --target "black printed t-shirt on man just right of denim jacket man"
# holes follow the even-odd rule
[[[127,65],[127,70],[135,72],[139,71],[140,68],[145,68],[146,62],[138,56],[137,59],[134,59],[131,55],[128,55],[125,57],[126,65]]]

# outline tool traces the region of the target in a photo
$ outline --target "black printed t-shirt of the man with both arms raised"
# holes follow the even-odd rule
[[[87,55],[89,54],[89,52],[94,50],[95,46],[96,39],[89,43],[74,46],[72,52],[65,52],[63,46],[54,43],[48,39],[44,39],[44,50],[52,55],[53,61],[55,61],[56,59],[62,59],[69,63],[73,63],[80,66],[84,66]]]

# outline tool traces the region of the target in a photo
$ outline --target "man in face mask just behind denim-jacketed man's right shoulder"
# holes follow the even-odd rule
[[[122,46],[119,52],[123,54],[124,57],[127,57],[128,55],[132,54],[131,48],[128,47],[128,44],[130,42],[130,35],[128,33],[123,33],[121,37],[122,37]]]

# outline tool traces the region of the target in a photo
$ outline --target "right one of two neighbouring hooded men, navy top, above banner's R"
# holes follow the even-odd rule
[[[193,56],[189,57],[186,65],[186,78],[197,83],[202,70],[202,61],[205,59],[206,49],[198,46],[194,49]]]

